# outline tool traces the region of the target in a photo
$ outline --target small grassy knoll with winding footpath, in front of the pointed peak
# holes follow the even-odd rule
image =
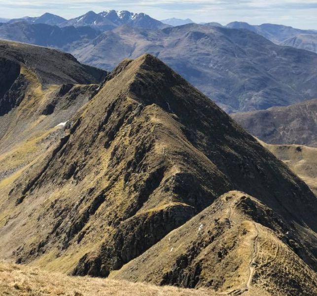
[[[224,295],[315,295],[316,273],[292,251],[286,225],[257,199],[228,192],[110,278]]]

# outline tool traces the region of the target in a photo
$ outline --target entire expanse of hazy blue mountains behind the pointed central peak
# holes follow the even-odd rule
[[[163,22],[129,11],[89,11],[71,20],[45,13],[1,23],[0,37],[58,48],[106,70],[126,57],[148,52],[227,112],[263,110],[317,97],[317,55],[274,44],[316,51],[314,30],[241,22],[173,27],[191,20]]]

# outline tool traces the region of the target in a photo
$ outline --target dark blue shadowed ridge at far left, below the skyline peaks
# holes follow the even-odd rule
[[[0,26],[0,37],[7,40],[31,43],[41,46],[69,50],[73,42],[86,43],[100,35],[91,27],[49,26],[45,24],[30,24],[25,21],[3,24]]]

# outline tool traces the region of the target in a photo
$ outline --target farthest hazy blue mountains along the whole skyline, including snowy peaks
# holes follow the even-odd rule
[[[23,17],[18,19],[1,19],[0,23],[14,23],[25,21],[30,24],[47,24],[59,27],[81,27],[90,26],[98,31],[112,30],[118,26],[129,25],[130,27],[143,29],[164,29],[166,27],[183,26],[194,23],[191,19],[170,18],[162,21],[151,18],[144,13],[133,13],[126,10],[106,10],[100,13],[88,11],[86,14],[66,20],[58,15],[44,13],[39,17]],[[232,22],[226,26],[219,23],[200,23],[205,26],[227,27],[231,29],[246,29],[262,35],[279,45],[292,46],[317,53],[317,31],[300,30],[289,26],[276,24],[250,25],[245,22]]]

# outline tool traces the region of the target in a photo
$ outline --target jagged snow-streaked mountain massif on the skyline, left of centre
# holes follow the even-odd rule
[[[89,11],[84,15],[71,19],[61,26],[90,26],[101,31],[111,30],[121,25],[129,25],[144,29],[163,29],[168,25],[155,20],[144,13],[107,10],[100,13]]]

